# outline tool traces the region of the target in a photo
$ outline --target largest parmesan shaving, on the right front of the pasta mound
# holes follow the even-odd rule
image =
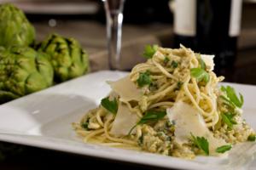
[[[179,101],[166,112],[170,122],[175,122],[174,134],[178,144],[187,143],[191,138],[191,133],[207,139],[211,155],[218,155],[215,152],[216,148],[226,144],[223,139],[216,139],[213,136],[202,116],[192,106]]]

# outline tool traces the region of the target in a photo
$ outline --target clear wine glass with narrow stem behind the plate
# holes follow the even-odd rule
[[[110,70],[120,69],[120,52],[125,0],[102,0],[107,18],[108,65]]]

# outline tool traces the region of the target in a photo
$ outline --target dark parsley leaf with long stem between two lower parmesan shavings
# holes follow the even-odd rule
[[[128,133],[128,135],[131,134],[132,130],[135,127],[137,127],[137,125],[145,124],[147,122],[158,121],[162,119],[164,116],[166,116],[166,111],[146,111],[146,114],[141,118],[141,120],[137,122],[136,125],[131,127],[131,130]]]

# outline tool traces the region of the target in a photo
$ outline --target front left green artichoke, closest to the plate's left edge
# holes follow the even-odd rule
[[[47,58],[28,47],[0,51],[0,104],[51,86],[54,71]]]

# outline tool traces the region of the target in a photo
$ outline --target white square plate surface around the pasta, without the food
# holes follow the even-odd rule
[[[126,74],[120,71],[99,71],[0,105],[0,140],[159,167],[186,169],[256,167],[254,143],[237,145],[230,151],[229,156],[198,156],[191,161],[84,144],[74,133],[71,123],[79,122],[86,111],[95,108],[109,93],[110,88],[106,80],[117,80]],[[256,87],[234,83],[231,86],[244,95],[244,117],[256,129]]]

